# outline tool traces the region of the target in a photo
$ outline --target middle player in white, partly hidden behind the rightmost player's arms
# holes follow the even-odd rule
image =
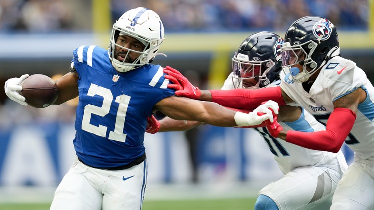
[[[277,61],[283,39],[271,32],[248,36],[232,58],[232,72],[222,90],[258,89],[278,86],[281,62]],[[174,70],[176,71],[176,70]],[[173,72],[169,72],[173,75]],[[290,130],[314,132],[325,130],[314,117],[297,106],[280,106],[278,121]],[[151,118],[150,133],[181,131],[199,125],[163,118]],[[257,197],[255,210],[328,209],[332,195],[347,169],[341,151],[338,153],[311,150],[273,138],[266,128],[253,128],[265,140],[284,176],[264,187]]]

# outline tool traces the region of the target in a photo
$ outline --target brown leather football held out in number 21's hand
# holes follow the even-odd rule
[[[58,98],[58,88],[52,78],[43,74],[33,74],[26,78],[19,93],[26,98],[28,105],[45,108],[52,105]]]

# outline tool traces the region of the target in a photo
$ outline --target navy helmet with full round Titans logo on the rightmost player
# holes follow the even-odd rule
[[[305,82],[331,57],[340,54],[336,27],[322,17],[300,18],[288,28],[280,51],[286,82]],[[292,68],[296,64],[303,66],[302,72]]]

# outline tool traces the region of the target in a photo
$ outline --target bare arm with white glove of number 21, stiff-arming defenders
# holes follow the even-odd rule
[[[245,114],[229,110],[212,102],[203,102],[184,97],[171,96],[161,100],[155,105],[166,116],[176,120],[195,120],[220,127],[254,126],[269,119],[273,122],[271,108],[278,114],[278,105],[269,101],[260,105],[253,112]],[[265,113],[259,116],[257,113]]]

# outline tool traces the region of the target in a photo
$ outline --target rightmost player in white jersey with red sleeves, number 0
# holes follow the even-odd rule
[[[337,29],[328,19],[300,18],[284,39],[279,87],[196,91],[182,80],[184,87],[175,94],[237,108],[256,106],[265,99],[304,107],[326,123],[325,131],[306,133],[269,126],[272,136],[330,152],[338,152],[345,142],[354,151],[354,160],[338,183],[330,209],[374,209],[373,85],[361,68],[340,56]],[[230,100],[225,100],[228,96]]]

